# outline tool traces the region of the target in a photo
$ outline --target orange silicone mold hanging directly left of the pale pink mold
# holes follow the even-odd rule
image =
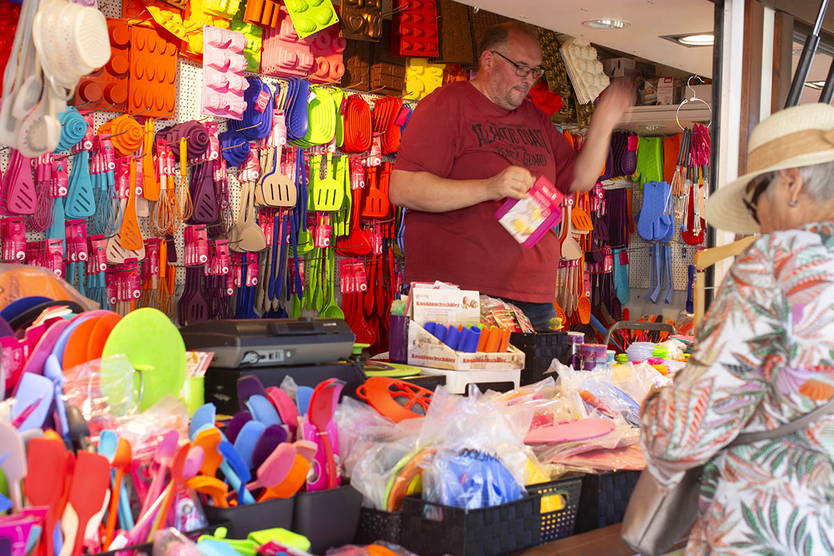
[[[130,114],[159,118],[173,114],[177,96],[177,47],[156,28],[130,28]]]

